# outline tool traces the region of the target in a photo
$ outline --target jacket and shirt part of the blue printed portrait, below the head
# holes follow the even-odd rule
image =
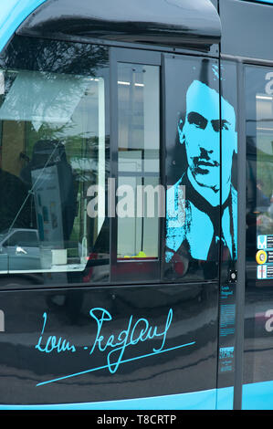
[[[198,260],[217,260],[220,231],[222,245],[231,259],[236,259],[237,192],[233,185],[225,204],[212,206],[198,194],[184,174],[167,190],[166,251],[170,262],[175,253],[187,252]]]

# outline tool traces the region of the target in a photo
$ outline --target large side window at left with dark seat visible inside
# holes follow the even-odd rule
[[[0,72],[1,256],[10,274],[36,272],[45,280],[42,273],[50,272],[58,283],[105,281],[107,52],[52,41],[26,45],[27,68],[37,69]],[[86,56],[89,67],[83,62],[82,72],[75,73],[74,62]],[[73,276],[54,277],[59,272]]]

